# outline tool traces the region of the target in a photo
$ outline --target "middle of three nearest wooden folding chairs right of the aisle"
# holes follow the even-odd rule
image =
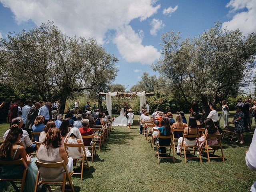
[[[196,138],[196,145],[185,145],[184,143],[184,139],[185,138]],[[187,135],[187,134],[183,134],[183,138],[182,138],[182,148],[183,148],[183,151],[184,151],[184,159],[185,159],[185,163],[187,163],[187,159],[200,159],[200,163],[202,163],[202,157],[201,157],[201,153],[200,153],[200,145],[199,145],[199,141],[198,141],[198,138],[199,138],[199,134],[195,134],[195,135]],[[194,150],[194,157],[186,157],[186,147],[192,147],[193,149],[189,149],[188,151],[192,151]],[[181,156],[181,151],[182,151],[182,148],[180,150],[180,156]],[[196,148],[198,148],[198,151],[199,151],[199,157],[195,157],[195,154],[196,154]]]

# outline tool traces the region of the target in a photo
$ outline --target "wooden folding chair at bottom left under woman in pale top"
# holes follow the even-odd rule
[[[52,190],[58,190],[58,191],[72,191],[75,192],[74,190],[74,186],[71,180],[71,176],[74,173],[74,171],[72,172],[68,172],[66,164],[64,163],[64,161],[61,162],[56,162],[56,163],[41,163],[38,160],[36,160],[36,166],[38,167],[38,172],[37,172],[37,177],[36,177],[36,187],[35,187],[35,192],[37,192],[38,190],[38,186],[41,184],[46,184],[48,190],[51,192]],[[40,172],[39,172],[39,168],[40,167],[45,167],[45,168],[58,168],[58,167],[63,167],[64,168],[64,175],[63,175],[63,180],[61,182],[54,182],[54,181],[48,181],[48,180],[40,180]],[[71,189],[66,189],[65,190],[65,186],[66,186],[66,180],[68,180]],[[60,189],[52,189],[50,186],[60,186]]]

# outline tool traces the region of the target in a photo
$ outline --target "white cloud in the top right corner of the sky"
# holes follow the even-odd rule
[[[232,20],[224,22],[222,28],[236,30],[239,28],[245,35],[256,32],[256,0],[230,0],[226,7],[231,8]],[[241,11],[242,12],[239,12]]]

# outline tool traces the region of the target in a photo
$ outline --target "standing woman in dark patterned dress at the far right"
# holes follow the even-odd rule
[[[244,144],[244,113],[242,106],[236,106],[236,114],[234,115],[233,123],[235,124],[234,132],[237,133],[238,140],[236,143]]]

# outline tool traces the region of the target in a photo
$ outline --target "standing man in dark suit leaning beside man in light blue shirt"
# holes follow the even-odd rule
[[[36,120],[36,117],[38,116],[38,110],[41,107],[40,102],[36,102],[29,110],[27,114],[27,120],[25,129],[28,132],[29,137],[31,138],[31,128],[34,125],[34,121]]]

